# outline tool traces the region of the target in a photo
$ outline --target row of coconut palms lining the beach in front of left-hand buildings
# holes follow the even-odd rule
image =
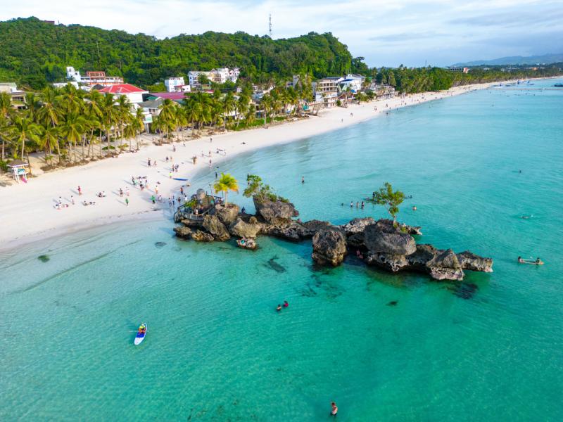
[[[237,129],[241,124],[268,124],[279,115],[296,115],[303,101],[312,96],[310,79],[295,88],[277,86],[262,97],[257,106],[251,101],[247,84],[235,96],[232,91],[213,94],[186,93],[181,102],[164,99],[153,117],[151,132],[160,143],[170,142],[175,132],[185,139],[186,130],[198,136],[203,127]],[[0,93],[1,162],[21,158],[35,151],[44,153],[46,165],[68,165],[102,158],[139,148],[139,135],[145,131],[144,111],[126,96],[76,89],[71,84],[56,89],[46,87],[25,96],[27,107],[15,110],[7,93]],[[176,135],[177,136],[177,135]],[[56,160],[55,160],[56,159]]]

